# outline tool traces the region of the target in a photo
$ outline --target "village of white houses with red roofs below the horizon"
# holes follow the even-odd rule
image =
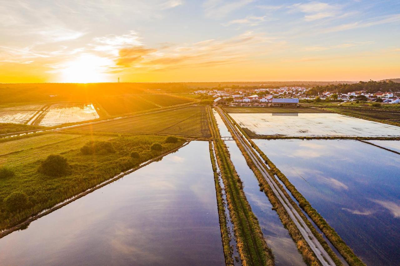
[[[324,91],[313,95],[306,87],[280,87],[260,88],[252,90],[233,89],[203,89],[194,91],[195,95],[211,96],[215,105],[234,106],[281,106],[296,107],[300,100],[325,100],[325,101],[372,101],[378,103],[400,103],[400,92],[376,92],[352,91],[348,93],[333,93]]]

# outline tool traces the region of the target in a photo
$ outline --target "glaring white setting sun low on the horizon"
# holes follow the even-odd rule
[[[67,62],[60,70],[61,82],[108,82],[110,81],[110,75],[105,71],[111,63],[112,62],[107,58],[101,58],[91,54],[82,55],[74,61]]]

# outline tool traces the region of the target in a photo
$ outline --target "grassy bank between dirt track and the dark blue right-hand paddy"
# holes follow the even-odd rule
[[[229,115],[228,115],[229,116]],[[262,159],[265,160],[267,165],[270,167],[270,174],[276,176],[284,183],[286,188],[290,191],[293,197],[299,202],[300,207],[308,214],[308,216],[312,219],[312,221],[320,228],[320,230],[325,234],[325,236],[330,240],[330,242],[335,246],[335,248],[340,252],[346,262],[350,265],[365,265],[360,258],[354,254],[351,248],[342,240],[342,238],[338,235],[338,233],[332,228],[328,222],[319,214],[314,208],[312,208],[310,202],[306,200],[303,195],[290,183],[288,178],[268,159],[268,157],[261,151],[260,148],[252,141],[248,135],[243,131],[243,129],[230,117],[233,123],[236,124],[238,129],[242,131],[246,139],[250,142],[251,146],[261,155]],[[268,169],[267,169],[268,170]],[[277,184],[278,181],[276,181]],[[297,204],[296,204],[297,205]],[[314,234],[316,235],[316,234]],[[317,236],[317,235],[316,235]],[[322,236],[319,236],[321,239]],[[324,246],[325,248],[325,246]],[[335,261],[336,262],[336,261]]]

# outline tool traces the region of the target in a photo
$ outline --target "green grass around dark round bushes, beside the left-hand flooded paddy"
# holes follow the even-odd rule
[[[0,143],[0,162],[14,175],[0,179],[0,230],[8,228],[29,216],[62,202],[86,189],[114,177],[140,163],[167,153],[182,145],[164,143],[166,137],[135,135],[119,137],[103,134],[43,134]],[[88,141],[107,141],[114,152],[85,155],[80,148]],[[151,150],[153,143],[162,143],[162,149]],[[132,157],[137,152],[139,157]],[[38,173],[40,162],[49,154],[62,154],[70,168],[62,176]],[[12,209],[4,201],[14,192],[26,195],[27,202]]]

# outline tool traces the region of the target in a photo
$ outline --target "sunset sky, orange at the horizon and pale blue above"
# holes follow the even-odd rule
[[[0,0],[0,83],[400,77],[400,2]]]

